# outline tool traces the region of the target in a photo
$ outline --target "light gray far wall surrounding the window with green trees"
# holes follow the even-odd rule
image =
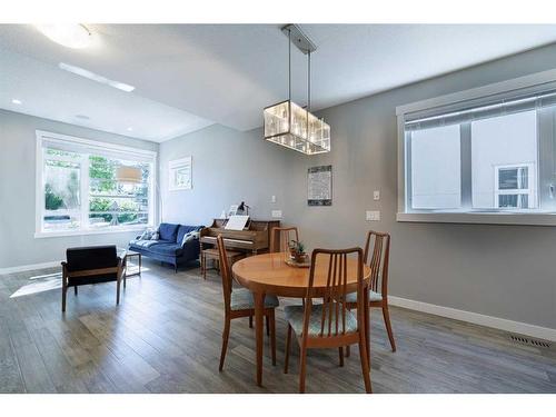
[[[158,143],[0,110],[0,268],[60,260],[71,246],[127,246],[135,232],[34,238],[37,129],[158,150]]]

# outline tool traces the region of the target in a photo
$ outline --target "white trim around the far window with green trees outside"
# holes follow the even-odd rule
[[[153,227],[156,219],[159,216],[156,185],[157,185],[157,170],[158,170],[158,153],[156,151],[131,148],[121,145],[115,145],[109,142],[96,141],[90,139],[78,138],[68,135],[54,133],[44,130],[36,130],[37,143],[36,143],[36,170],[34,170],[34,238],[50,238],[50,237],[62,237],[62,236],[86,236],[86,235],[108,235],[108,234],[125,234],[130,231],[145,230],[148,227]],[[149,183],[149,224],[148,225],[137,225],[137,226],[113,226],[110,229],[80,229],[80,230],[58,230],[58,231],[44,231],[42,230],[42,208],[44,207],[44,187],[42,183],[42,166],[44,162],[42,153],[42,142],[48,140],[60,140],[64,142],[73,142],[86,145],[92,148],[109,149],[115,151],[122,151],[128,153],[141,155],[152,159],[152,169]],[[83,169],[83,168],[81,168]],[[86,176],[88,178],[88,176]]]

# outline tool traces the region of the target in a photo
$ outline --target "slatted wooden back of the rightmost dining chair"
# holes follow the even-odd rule
[[[370,260],[369,260],[370,256]],[[390,235],[370,230],[365,244],[365,264],[370,267],[370,289],[388,296],[388,264],[390,260]]]

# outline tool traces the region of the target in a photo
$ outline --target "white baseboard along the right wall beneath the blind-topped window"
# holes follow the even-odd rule
[[[518,335],[556,341],[556,329],[550,329],[547,327],[507,320],[499,317],[479,315],[477,312],[458,310],[456,308],[443,307],[428,302],[415,301],[401,297],[388,296],[388,304],[391,306],[408,308],[410,310],[417,310],[436,316],[453,318],[456,320],[473,322],[475,325],[493,327],[495,329],[515,332]]]

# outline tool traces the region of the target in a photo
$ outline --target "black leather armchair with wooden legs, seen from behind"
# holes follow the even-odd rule
[[[66,294],[73,287],[90,284],[116,281],[116,304],[120,304],[120,284],[123,274],[123,260],[118,257],[116,246],[91,246],[69,248],[62,262],[62,311],[66,311]]]

